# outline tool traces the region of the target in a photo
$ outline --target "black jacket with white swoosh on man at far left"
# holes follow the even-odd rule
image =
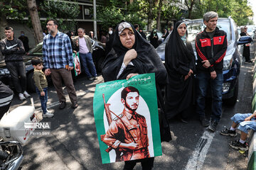
[[[23,60],[25,49],[21,40],[7,40],[4,38],[0,41],[0,50],[4,55],[5,62],[18,62]]]

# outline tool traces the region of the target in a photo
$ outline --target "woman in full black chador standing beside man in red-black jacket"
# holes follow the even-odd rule
[[[187,123],[193,103],[193,73],[196,71],[195,56],[188,42],[186,23],[178,21],[166,45],[165,63],[169,84],[166,85],[166,116],[178,115]]]

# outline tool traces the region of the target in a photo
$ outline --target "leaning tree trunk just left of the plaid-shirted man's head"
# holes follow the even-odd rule
[[[36,7],[36,0],[27,0],[28,11],[31,16],[32,26],[34,30],[34,35],[36,38],[36,43],[43,41],[43,30],[41,27],[41,22],[38,16],[38,11]]]

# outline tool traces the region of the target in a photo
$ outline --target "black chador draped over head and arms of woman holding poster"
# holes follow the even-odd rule
[[[132,26],[131,23],[129,24]],[[109,52],[103,63],[102,76],[105,81],[117,79],[117,74],[119,73],[124,60],[124,55],[129,50],[124,47],[120,41],[118,26],[114,30],[112,50]],[[130,73],[155,73],[156,82],[166,84],[166,69],[164,64],[162,64],[159,55],[156,53],[156,50],[149,44],[149,42],[139,35],[137,30],[134,29],[134,26],[132,26],[132,30],[135,35],[135,42],[132,49],[136,50],[137,58],[132,60],[133,66],[130,64],[127,65],[119,79],[126,79],[127,75]]]

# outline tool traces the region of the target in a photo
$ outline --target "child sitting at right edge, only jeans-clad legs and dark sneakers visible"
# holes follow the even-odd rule
[[[238,127],[241,130],[240,140],[231,141],[229,143],[230,147],[234,149],[240,149],[246,151],[248,149],[245,140],[247,139],[248,130],[256,130],[256,111],[252,113],[237,113],[235,114],[231,120],[233,120],[233,124],[230,128],[225,128],[221,130],[220,134],[225,136],[233,136],[235,137],[237,133],[235,132],[235,128]],[[238,126],[239,125],[239,126]]]

